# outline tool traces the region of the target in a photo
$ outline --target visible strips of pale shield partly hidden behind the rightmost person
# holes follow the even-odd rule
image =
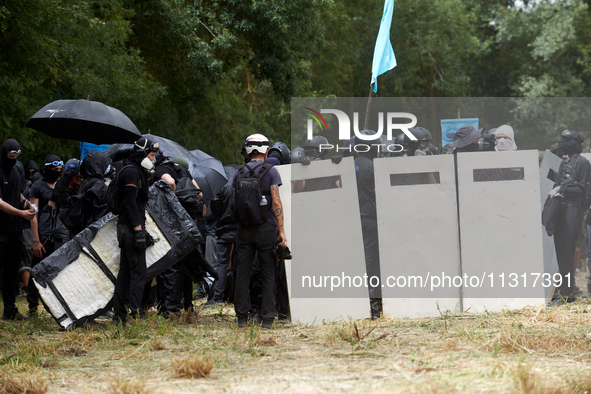
[[[561,161],[560,157],[556,156],[549,150],[544,152],[544,158],[540,164],[540,202],[542,207],[544,207],[548,193],[554,187],[554,180],[558,174],[558,167],[560,167]],[[544,246],[544,272],[553,275],[558,272],[554,238],[549,236],[545,229],[542,231],[542,242]],[[552,296],[552,291],[552,287],[546,288],[547,299]]]

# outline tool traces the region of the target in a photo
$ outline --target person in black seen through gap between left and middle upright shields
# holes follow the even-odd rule
[[[361,131],[363,135],[374,135],[373,130]],[[357,144],[365,143],[359,139]],[[368,278],[380,278],[380,246],[378,243],[378,219],[376,210],[375,178],[373,160],[378,157],[376,148],[368,152],[358,152],[355,159],[355,173],[357,175],[357,195],[359,196],[359,212],[361,214],[361,232],[363,234],[363,249],[365,253],[365,269]],[[370,281],[370,283],[375,281]],[[381,280],[379,281],[381,283]],[[369,287],[369,304],[371,318],[382,316],[381,285]]]

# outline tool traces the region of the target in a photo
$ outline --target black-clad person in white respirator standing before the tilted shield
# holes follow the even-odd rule
[[[143,318],[144,286],[147,280],[146,248],[153,239],[146,231],[146,203],[148,202],[148,172],[154,170],[158,143],[147,138],[135,142],[135,151],[117,176],[118,199],[123,201],[117,222],[117,241],[121,248],[119,274],[113,296],[115,322],[127,320],[126,301],[133,318]]]

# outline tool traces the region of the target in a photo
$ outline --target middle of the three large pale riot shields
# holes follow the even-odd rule
[[[451,155],[374,160],[384,312],[437,316],[455,310],[460,273]]]

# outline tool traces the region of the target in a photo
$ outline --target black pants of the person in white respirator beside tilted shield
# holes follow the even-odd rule
[[[136,249],[135,232],[130,226],[117,226],[117,240],[121,248],[121,261],[113,296],[115,317],[126,321],[125,302],[128,301],[131,315],[142,318],[145,315],[142,298],[147,281],[146,252]]]

